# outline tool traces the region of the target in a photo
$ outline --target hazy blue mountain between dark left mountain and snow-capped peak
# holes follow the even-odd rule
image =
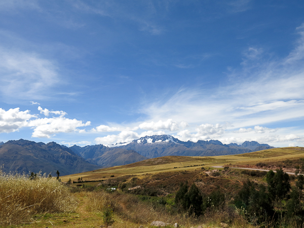
[[[102,167],[127,165],[147,159],[132,149],[118,147],[109,148],[104,145],[92,145],[70,147],[75,154],[84,158],[87,162]]]

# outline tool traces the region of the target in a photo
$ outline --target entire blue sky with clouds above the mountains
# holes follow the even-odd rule
[[[303,1],[0,2],[0,141],[304,146]]]

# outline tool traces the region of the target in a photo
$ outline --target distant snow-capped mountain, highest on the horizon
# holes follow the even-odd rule
[[[145,136],[133,140],[131,143],[112,145],[123,149],[133,149],[147,158],[163,156],[218,156],[249,153],[261,149],[274,148],[268,144],[258,142],[244,142],[242,145],[230,143],[222,144],[218,140],[199,140],[197,142],[180,141],[170,135]]]

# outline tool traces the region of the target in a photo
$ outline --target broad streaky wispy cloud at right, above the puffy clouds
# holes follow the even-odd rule
[[[301,37],[286,58],[290,60],[288,64],[285,58],[269,60],[261,56],[258,47],[249,48],[248,59],[259,59],[259,64],[247,62],[240,69],[231,70],[229,80],[222,82],[222,86],[183,88],[165,101],[145,102],[141,111],[153,120],[173,119],[185,121],[189,126],[219,120],[230,122],[241,131],[251,126],[303,119],[304,25],[297,30]]]

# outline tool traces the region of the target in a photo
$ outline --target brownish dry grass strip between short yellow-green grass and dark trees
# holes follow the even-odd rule
[[[140,201],[138,197],[130,194],[96,191],[88,192],[87,197],[87,211],[104,212],[111,209],[117,219],[138,225],[149,225],[151,221],[161,220],[171,224],[177,222],[184,227],[198,226],[204,223],[217,227],[220,222],[229,223],[231,227],[253,227],[236,213],[235,209],[227,207],[220,211],[208,211],[205,216],[196,217],[189,216],[188,213],[174,212],[166,206]]]

